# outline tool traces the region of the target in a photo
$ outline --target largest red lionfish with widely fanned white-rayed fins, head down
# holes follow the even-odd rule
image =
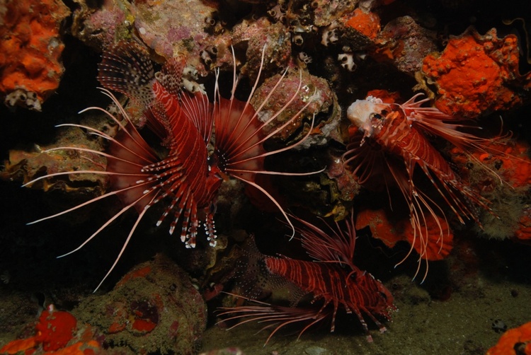
[[[263,48],[264,53],[265,47]],[[98,80],[106,88],[102,89],[103,94],[113,100],[120,114],[125,118],[125,124],[122,124],[118,118],[101,107],[86,108],[81,112],[86,110],[104,112],[118,124],[120,128],[118,134],[112,137],[92,127],[79,124],[61,124],[59,126],[86,129],[89,134],[95,134],[106,139],[109,143],[108,150],[101,152],[74,146],[61,146],[47,151],[72,149],[99,154],[107,159],[105,171],[78,170],[52,173],[24,185],[31,185],[38,180],[59,175],[83,173],[108,175],[110,179],[110,189],[105,194],[31,223],[52,219],[114,195],[118,196],[124,205],[117,214],[98,228],[78,248],[59,257],[64,257],[83,248],[86,243],[89,243],[92,238],[129,209],[134,208],[137,211],[138,218],[127,235],[118,257],[96,290],[120,260],[127,243],[129,243],[135,228],[137,228],[147,209],[163,200],[167,206],[159,221],[156,222],[157,226],[172,213],[173,221],[171,221],[169,233],[173,233],[176,224],[181,221],[181,240],[187,248],[194,248],[201,219],[205,223],[205,232],[210,245],[215,246],[216,235],[213,220],[215,198],[223,178],[227,175],[261,190],[278,206],[287,222],[292,226],[280,204],[255,182],[255,177],[256,174],[309,175],[316,173],[279,173],[263,168],[263,161],[266,156],[291,149],[308,136],[304,136],[301,141],[283,149],[276,151],[263,149],[263,142],[297,119],[312,100],[309,100],[301,110],[280,127],[273,129],[267,135],[263,134],[263,127],[275,120],[295,100],[302,86],[302,81],[299,81],[297,90],[290,98],[287,98],[285,105],[279,112],[268,118],[266,122],[258,120],[263,105],[267,103],[287,74],[286,70],[263,103],[255,110],[251,106],[250,100],[261,76],[263,54],[258,78],[256,78],[246,102],[234,98],[238,78],[236,76],[236,59],[233,54],[232,96],[230,99],[226,99],[219,95],[218,70],[216,71],[215,101],[210,103],[207,95],[203,93],[190,94],[181,90],[181,76],[185,65],[183,59],[169,59],[159,73],[154,73],[154,67],[149,60],[147,51],[134,42],[120,42],[103,53],[103,60],[99,65]],[[117,98],[107,89],[125,94],[133,103],[144,108],[143,118],[147,128],[159,136],[161,144],[168,149],[166,157],[159,158],[154,149],[142,138],[135,125],[132,124],[130,117]],[[212,134],[214,129],[215,134]],[[311,129],[309,129],[308,134],[309,132]],[[215,143],[212,149],[213,153],[209,155],[208,145],[211,139]],[[295,233],[295,229],[293,233]]]

